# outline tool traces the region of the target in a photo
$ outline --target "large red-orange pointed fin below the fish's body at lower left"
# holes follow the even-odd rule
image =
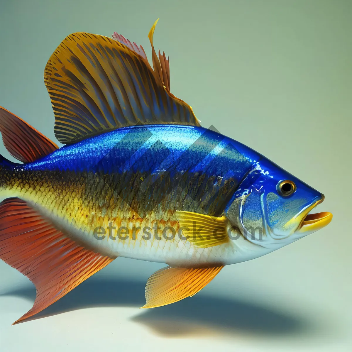
[[[18,198],[0,203],[0,258],[37,290],[33,308],[14,324],[41,312],[114,259],[77,244]]]

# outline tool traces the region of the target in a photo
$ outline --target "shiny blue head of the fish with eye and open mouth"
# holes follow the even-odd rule
[[[319,191],[263,158],[241,182],[226,216],[247,240],[275,250],[329,224],[331,213],[312,213],[323,200]]]

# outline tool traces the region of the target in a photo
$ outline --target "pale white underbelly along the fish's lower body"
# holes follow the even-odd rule
[[[77,227],[74,221],[63,219],[47,208],[34,203],[33,207],[77,243],[111,258],[126,257],[175,266],[209,266],[240,263],[266,254],[263,247],[252,244],[243,236],[217,246],[200,248],[182,236],[180,238],[177,233],[166,232],[163,235],[162,231],[151,230],[148,235],[141,230],[133,232],[132,225],[128,223],[125,224],[127,231],[118,234],[117,230],[108,230],[110,220],[101,224],[101,230],[88,230]]]

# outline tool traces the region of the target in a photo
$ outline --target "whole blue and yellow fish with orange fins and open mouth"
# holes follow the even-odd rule
[[[117,257],[165,263],[153,308],[190,297],[225,265],[258,258],[332,220],[324,195],[250,147],[202,127],[170,92],[169,57],[77,32],[49,58],[49,138],[0,108],[0,258],[36,286],[29,320]],[[34,318],[34,317],[33,317]]]

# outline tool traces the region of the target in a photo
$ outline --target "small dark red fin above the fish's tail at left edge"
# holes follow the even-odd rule
[[[23,163],[33,162],[58,149],[49,138],[1,106],[0,132],[8,152]]]

